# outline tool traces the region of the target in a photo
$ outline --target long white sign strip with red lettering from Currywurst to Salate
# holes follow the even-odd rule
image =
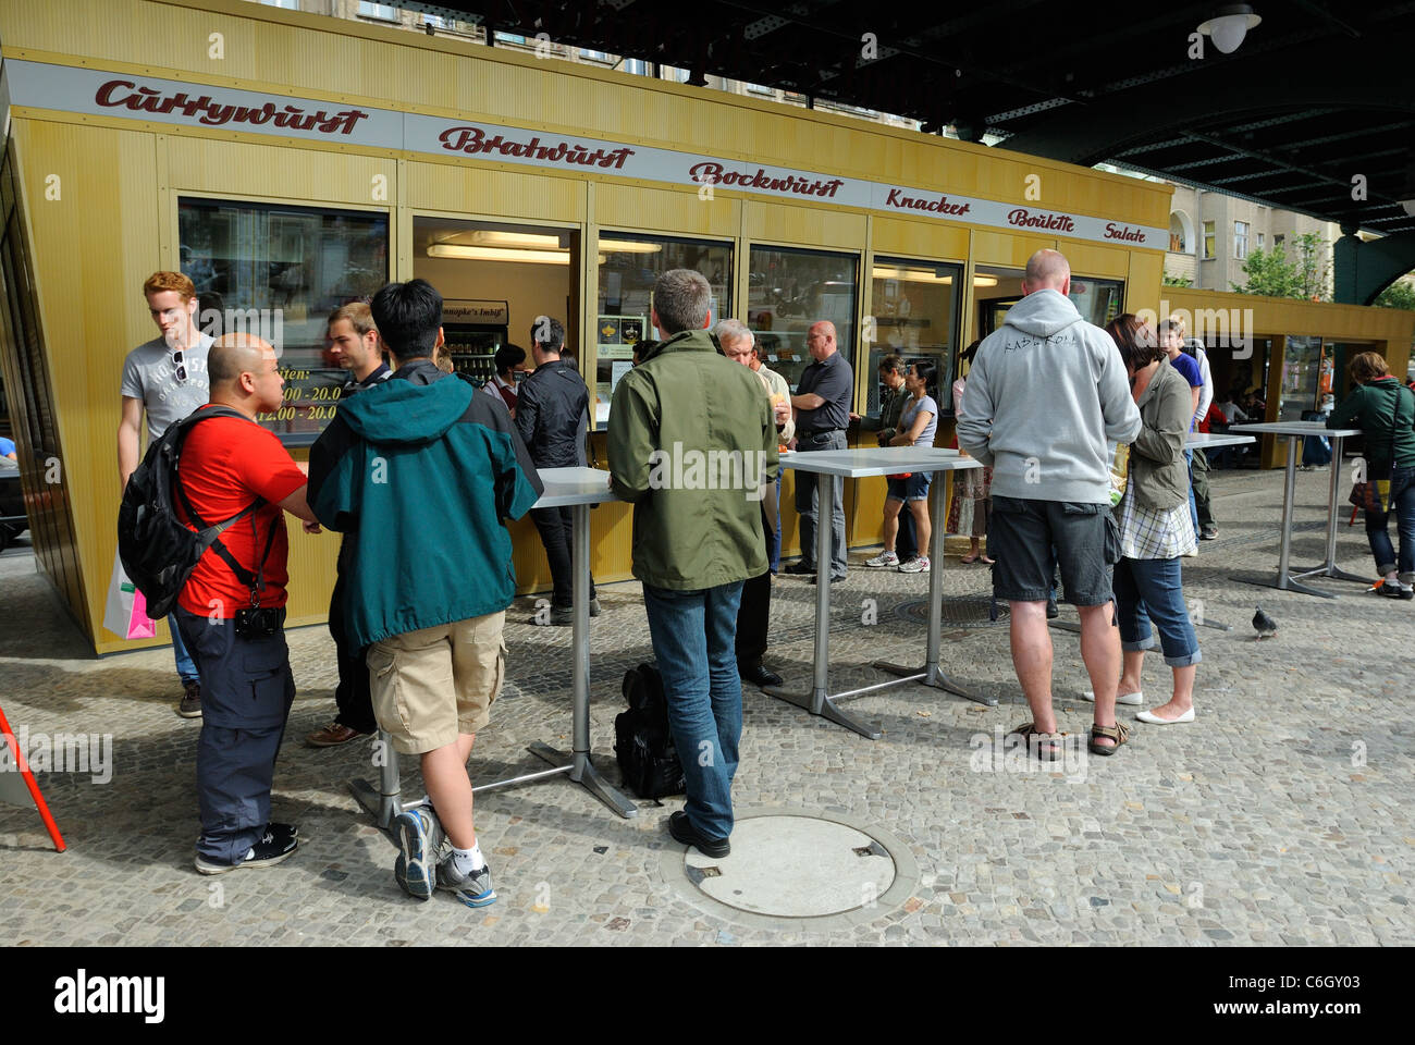
[[[11,103],[37,109],[338,142],[364,149],[451,154],[542,170],[596,170],[610,176],[692,187],[705,198],[722,188],[805,204],[839,204],[1156,251],[1169,244],[1167,229],[1160,228],[942,194],[937,188],[831,177],[674,149],[560,136],[545,130],[372,106],[331,105],[48,62],[11,59],[6,61],[4,71],[10,82]]]

